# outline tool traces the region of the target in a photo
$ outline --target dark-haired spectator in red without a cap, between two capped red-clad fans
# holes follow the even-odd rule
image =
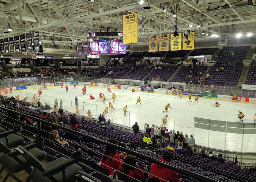
[[[144,171],[140,168],[133,155],[127,155],[124,158],[124,163],[118,167],[118,171],[121,172],[118,173],[118,179],[123,181],[132,178],[138,179],[139,181],[144,181],[145,179]]]

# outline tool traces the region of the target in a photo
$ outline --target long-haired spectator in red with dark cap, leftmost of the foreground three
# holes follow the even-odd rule
[[[109,139],[109,143],[118,145],[117,140]],[[106,149],[102,152],[101,157],[101,167],[108,169],[109,174],[113,174],[114,170],[117,170],[120,165],[122,165],[122,160],[120,157],[127,157],[127,153],[118,154],[117,150],[113,147],[106,146]]]

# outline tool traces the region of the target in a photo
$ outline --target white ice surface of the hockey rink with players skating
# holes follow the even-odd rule
[[[60,88],[60,86],[48,87],[47,90],[42,90],[41,103],[45,105],[47,102],[53,107],[53,102],[57,99],[58,106],[60,107],[60,99],[62,99],[63,109],[75,112],[75,96],[77,96],[80,114],[83,115],[84,113],[86,115],[90,109],[95,118],[98,117],[97,115],[102,114],[103,110],[108,106],[108,102],[113,103],[112,93],[107,92],[107,88],[87,86],[87,94],[83,95],[81,92],[82,87],[77,85],[76,89],[73,89],[73,86],[69,85],[68,92],[66,92],[65,88]],[[167,128],[182,131],[184,135],[185,133],[188,135],[193,134],[197,145],[231,151],[256,151],[255,134],[244,135],[244,141],[246,142],[242,142],[242,134],[227,133],[227,140],[225,142],[225,132],[194,128],[194,117],[240,123],[240,120],[237,120],[239,110],[245,114],[245,122],[253,122],[256,112],[255,104],[218,100],[221,107],[216,108],[211,106],[211,104],[214,104],[217,99],[199,98],[199,103],[193,104],[194,98],[192,98],[192,102],[189,102],[187,96],[180,99],[177,96],[166,94],[111,90],[116,94],[116,100],[113,103],[115,110],[110,109],[109,114],[106,114],[105,118],[110,118],[114,123],[131,127],[137,121],[140,129],[143,130],[144,123],[148,123],[150,126],[152,124],[160,126],[162,118],[167,114]],[[28,96],[29,100],[27,101],[31,102],[32,96],[37,94],[37,91],[37,89],[15,91],[11,95],[18,95],[19,93],[22,98]],[[105,94],[108,101],[106,104],[103,104],[102,99],[99,99],[100,92]],[[90,94],[96,99],[90,100]],[[136,106],[136,100],[139,96],[142,99],[142,105],[137,104]],[[165,105],[168,103],[170,103],[173,109],[169,108],[167,113],[163,113]],[[127,110],[129,113],[127,116],[124,116],[123,112],[125,105],[128,106]],[[210,137],[208,137],[208,132],[210,132]],[[226,146],[224,146],[224,143],[226,143]]]

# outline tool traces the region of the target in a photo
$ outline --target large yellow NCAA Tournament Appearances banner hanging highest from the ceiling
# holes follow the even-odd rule
[[[123,44],[138,43],[138,12],[123,15]]]

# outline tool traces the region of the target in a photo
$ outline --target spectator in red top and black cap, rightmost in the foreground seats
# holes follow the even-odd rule
[[[171,164],[172,155],[169,152],[163,152],[163,155],[161,158],[159,158],[159,160],[162,162]],[[180,182],[180,178],[176,171],[173,171],[161,165],[152,163],[149,178],[155,178],[155,177],[158,177],[161,182],[165,182],[164,180]]]

